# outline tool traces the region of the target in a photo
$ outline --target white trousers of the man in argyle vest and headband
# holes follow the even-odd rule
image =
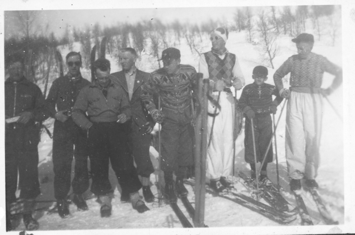
[[[212,97],[217,101],[218,92]],[[233,127],[234,127],[234,98],[231,93],[221,92],[219,97],[221,109],[217,109],[212,139],[207,149],[206,176],[210,180],[217,180],[221,176],[228,176],[233,168]],[[213,114],[215,107],[208,101],[208,113]],[[207,143],[211,135],[213,117],[208,116]]]

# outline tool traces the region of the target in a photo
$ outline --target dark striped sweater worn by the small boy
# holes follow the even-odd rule
[[[272,101],[272,95],[276,98]],[[279,105],[283,100],[275,86],[263,83],[258,86],[255,82],[244,87],[238,106],[244,113],[252,109],[255,114],[270,114],[270,106]]]

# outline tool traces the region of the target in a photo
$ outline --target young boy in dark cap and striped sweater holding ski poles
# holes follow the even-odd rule
[[[246,85],[240,96],[238,106],[245,113],[245,161],[250,164],[251,178],[256,177],[256,164],[252,138],[251,119],[254,124],[255,148],[257,162],[262,162],[270,139],[272,138],[272,120],[270,113],[276,114],[277,106],[282,99],[275,86],[264,83],[267,80],[268,70],[264,66],[256,66],[253,69],[252,84]],[[276,98],[272,101],[272,95]],[[266,160],[261,168],[260,181],[268,184],[266,167],[272,162],[273,152],[269,149]]]

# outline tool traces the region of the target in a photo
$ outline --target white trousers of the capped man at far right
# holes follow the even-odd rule
[[[315,179],[319,166],[322,96],[291,91],[286,111],[286,162],[291,179]]]

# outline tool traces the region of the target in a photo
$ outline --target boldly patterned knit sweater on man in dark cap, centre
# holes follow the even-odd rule
[[[159,93],[164,109],[183,113],[190,107],[191,89],[197,91],[197,72],[191,65],[181,65],[174,76],[169,76],[164,68],[151,73],[142,87],[142,101],[149,113],[157,109],[153,95]]]

